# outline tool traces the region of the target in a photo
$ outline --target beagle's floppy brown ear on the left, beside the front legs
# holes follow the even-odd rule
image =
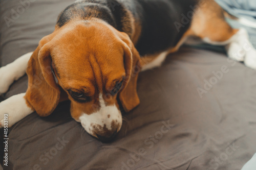
[[[29,78],[25,99],[40,116],[50,115],[59,103],[60,89],[52,73],[50,45],[41,40],[27,68]]]

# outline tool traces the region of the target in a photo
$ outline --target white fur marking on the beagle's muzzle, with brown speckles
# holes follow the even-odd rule
[[[99,102],[100,102],[100,110],[92,113],[90,115],[86,113],[82,113],[79,117],[79,122],[81,122],[82,127],[91,135],[95,136],[93,126],[106,126],[107,129],[110,131],[112,130],[111,124],[112,121],[115,124],[119,124],[117,132],[121,129],[122,126],[122,115],[121,112],[118,110],[116,105],[112,106],[105,106],[105,102],[103,100],[102,94],[99,94]],[[110,117],[108,117],[110,115]],[[117,122],[116,122],[117,120]],[[97,137],[97,136],[95,136]]]

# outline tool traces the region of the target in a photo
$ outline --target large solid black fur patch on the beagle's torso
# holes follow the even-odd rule
[[[195,6],[195,0],[137,0],[140,4],[137,14],[141,20],[142,32],[136,48],[140,55],[154,54],[175,46],[190,26],[190,21],[177,30],[175,22],[182,23]]]

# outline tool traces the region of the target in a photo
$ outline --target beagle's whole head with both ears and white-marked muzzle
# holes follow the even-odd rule
[[[89,134],[109,139],[122,125],[118,103],[126,112],[139,104],[139,70],[127,34],[99,20],[67,24],[39,42],[27,68],[26,99],[48,116],[66,94],[72,117]]]

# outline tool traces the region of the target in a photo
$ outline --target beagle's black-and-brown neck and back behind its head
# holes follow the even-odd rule
[[[133,41],[140,55],[144,56],[174,47],[189,28],[191,19],[186,20],[179,30],[175,23],[181,23],[196,4],[196,0],[83,0],[65,9],[59,15],[57,26],[62,27],[74,18],[88,20],[96,17],[131,36],[133,26],[130,21],[135,20],[137,38]]]

